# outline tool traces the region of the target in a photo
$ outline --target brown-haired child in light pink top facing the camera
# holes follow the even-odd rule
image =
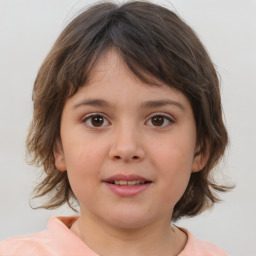
[[[79,202],[0,255],[227,255],[173,224],[227,191],[210,178],[228,137],[219,81],[192,29],[158,5],[97,4],[39,70],[27,138],[43,208]]]

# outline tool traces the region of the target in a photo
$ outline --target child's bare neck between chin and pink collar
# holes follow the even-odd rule
[[[186,235],[168,220],[139,228],[113,227],[88,214],[73,224],[71,230],[88,247],[102,256],[172,256],[178,255],[186,244]]]

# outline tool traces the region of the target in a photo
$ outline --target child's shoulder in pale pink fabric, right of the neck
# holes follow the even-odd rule
[[[228,256],[217,245],[196,238],[184,228],[179,229],[185,232],[188,237],[187,244],[179,256]]]

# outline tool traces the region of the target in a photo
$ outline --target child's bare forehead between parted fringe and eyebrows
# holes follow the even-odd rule
[[[89,81],[71,97],[74,106],[81,103],[105,106],[161,106],[170,102],[180,109],[189,108],[187,98],[178,90],[147,75],[149,83],[143,82],[127,66],[115,49],[107,51],[95,64]],[[152,103],[158,101],[158,103]],[[151,102],[149,104],[149,102]],[[169,103],[168,103],[169,102]]]

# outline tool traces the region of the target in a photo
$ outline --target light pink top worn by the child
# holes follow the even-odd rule
[[[45,231],[0,242],[0,256],[99,256],[69,229],[77,218],[52,217]],[[182,230],[188,241],[178,256],[227,256],[216,245]]]

